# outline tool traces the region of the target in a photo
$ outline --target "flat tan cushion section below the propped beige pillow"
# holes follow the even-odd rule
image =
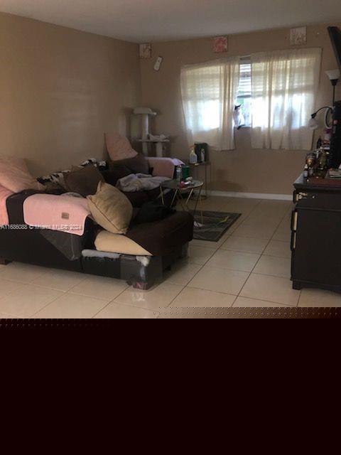
[[[151,253],[125,235],[102,230],[94,241],[97,251],[120,253],[121,255],[151,256]]]

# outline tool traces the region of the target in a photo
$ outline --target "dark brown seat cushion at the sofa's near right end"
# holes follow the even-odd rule
[[[153,256],[166,256],[193,240],[193,225],[193,215],[176,212],[164,220],[131,226],[126,237],[134,240]]]

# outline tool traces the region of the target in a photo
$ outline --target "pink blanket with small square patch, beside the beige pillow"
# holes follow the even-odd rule
[[[85,198],[33,194],[23,203],[23,219],[29,226],[83,235],[90,215]]]

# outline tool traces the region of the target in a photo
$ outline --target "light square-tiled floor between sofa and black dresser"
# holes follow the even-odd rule
[[[210,197],[201,206],[242,216],[219,242],[193,240],[189,257],[149,291],[11,263],[0,266],[0,317],[149,319],[182,306],[341,306],[338,294],[292,289],[290,202]]]

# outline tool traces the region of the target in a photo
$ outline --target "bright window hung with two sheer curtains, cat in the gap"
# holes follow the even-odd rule
[[[181,68],[188,144],[234,149],[241,105],[254,149],[310,150],[321,49],[300,48],[222,58]]]

